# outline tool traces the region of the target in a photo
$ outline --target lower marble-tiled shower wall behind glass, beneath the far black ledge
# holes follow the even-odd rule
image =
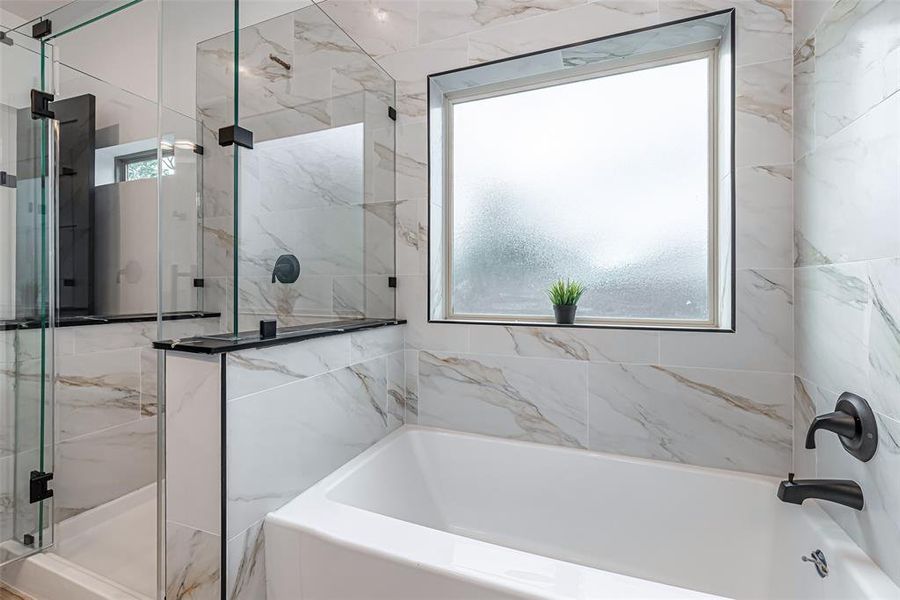
[[[217,319],[164,322],[166,337]],[[56,346],[56,521],[156,481],[157,323],[62,327]]]

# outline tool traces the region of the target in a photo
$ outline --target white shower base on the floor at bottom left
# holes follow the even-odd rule
[[[57,526],[57,544],[8,567],[4,579],[36,600],[152,600],[156,485]]]

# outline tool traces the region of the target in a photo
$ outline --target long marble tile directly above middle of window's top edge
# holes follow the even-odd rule
[[[486,62],[656,25],[656,0],[600,0],[469,36],[469,60]]]

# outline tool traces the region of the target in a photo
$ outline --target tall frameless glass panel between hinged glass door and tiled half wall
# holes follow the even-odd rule
[[[155,372],[142,360],[152,334],[141,319],[157,312],[158,177],[126,173],[136,157],[159,157],[158,14],[153,0],[119,6],[69,27],[51,15],[52,281],[66,340],[53,369],[61,457],[54,520],[60,560],[152,597],[157,418],[153,390],[143,385]],[[122,522],[134,524],[127,539]]]

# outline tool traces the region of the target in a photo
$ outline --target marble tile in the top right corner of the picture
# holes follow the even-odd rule
[[[816,30],[816,136],[843,129],[900,88],[900,3],[839,0]],[[896,110],[896,108],[895,108]]]

